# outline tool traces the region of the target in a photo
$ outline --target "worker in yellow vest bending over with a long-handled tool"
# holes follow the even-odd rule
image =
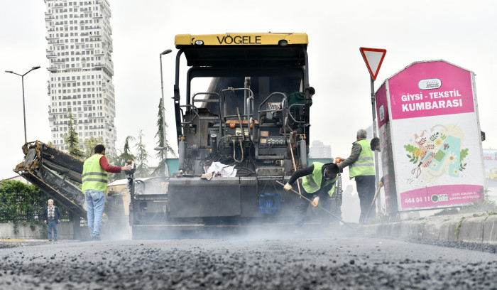
[[[329,197],[333,195],[334,184],[337,181],[339,168],[335,163],[320,163],[313,162],[311,166],[295,171],[288,183],[283,186],[285,190],[290,190],[292,184],[302,177],[302,193],[305,198],[312,200],[312,206],[316,207],[320,203],[323,208],[329,208]],[[329,196],[327,196],[329,195]],[[305,220],[305,213],[309,203],[304,198],[300,198],[297,207],[297,216],[295,217],[295,225],[302,227]],[[329,216],[322,213],[322,225],[327,225]]]

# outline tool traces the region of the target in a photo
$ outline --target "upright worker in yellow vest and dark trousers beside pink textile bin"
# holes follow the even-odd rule
[[[352,144],[350,156],[347,159],[339,157],[339,168],[343,169],[349,166],[349,177],[356,179],[357,194],[361,203],[360,224],[364,224],[368,219],[376,216],[376,210],[373,207],[366,217],[369,205],[373,202],[376,185],[373,151],[371,144],[366,140],[367,136],[366,130],[357,131],[357,141]]]

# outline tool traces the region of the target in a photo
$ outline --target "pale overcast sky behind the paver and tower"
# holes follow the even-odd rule
[[[114,40],[116,147],[143,129],[153,147],[160,99],[159,53],[170,133],[174,131],[174,36],[180,33],[305,32],[309,35],[311,138],[332,146],[333,156],[349,156],[356,131],[371,124],[369,75],[359,47],[388,50],[375,90],[405,66],[420,60],[447,60],[476,73],[484,148],[497,148],[497,1],[126,1],[109,0]],[[474,3],[478,5],[475,5]],[[23,160],[24,78],[28,141],[50,140],[45,3],[2,1],[0,14],[1,163],[0,178],[16,173]],[[250,5],[248,5],[250,4]],[[184,72],[184,71],[183,71]],[[185,90],[182,90],[185,93]],[[168,134],[175,142],[175,134]],[[311,141],[312,141],[311,140]],[[151,159],[150,166],[155,166]],[[345,178],[348,179],[348,178]]]

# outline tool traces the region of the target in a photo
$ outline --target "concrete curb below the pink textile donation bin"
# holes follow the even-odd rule
[[[358,232],[363,235],[379,237],[497,245],[497,215],[474,217],[461,214],[361,225]]]

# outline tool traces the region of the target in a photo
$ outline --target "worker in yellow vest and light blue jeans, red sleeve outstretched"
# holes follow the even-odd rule
[[[104,214],[105,192],[107,191],[107,172],[119,173],[129,171],[131,166],[110,166],[105,157],[105,146],[97,145],[95,154],[84,161],[83,187],[84,199],[87,204],[87,220],[89,235],[92,240],[100,240],[100,225]]]

